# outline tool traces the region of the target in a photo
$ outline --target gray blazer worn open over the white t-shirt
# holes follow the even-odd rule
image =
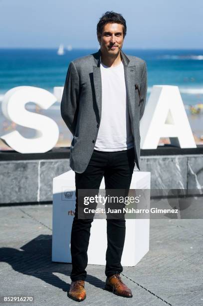
[[[140,119],[147,94],[146,62],[126,55],[124,64],[131,129],[134,136],[135,162],[139,167]],[[85,171],[97,139],[101,120],[102,82],[101,51],[70,62],[61,100],[61,116],[73,134],[70,146],[70,167],[78,173]]]

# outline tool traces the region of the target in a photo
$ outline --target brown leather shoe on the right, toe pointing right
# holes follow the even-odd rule
[[[131,289],[123,283],[121,276],[118,273],[106,278],[105,289],[120,296],[133,296]]]

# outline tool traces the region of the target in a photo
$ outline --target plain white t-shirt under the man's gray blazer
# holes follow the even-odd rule
[[[102,112],[95,149],[122,151],[134,147],[123,62],[115,67],[101,63]]]

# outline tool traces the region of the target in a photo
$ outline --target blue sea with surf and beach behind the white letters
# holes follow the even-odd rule
[[[72,49],[65,50],[65,54],[59,56],[56,49],[0,49],[0,100],[7,90],[20,85],[37,86],[53,92],[54,86],[64,85],[71,60],[95,51],[97,49]],[[123,51],[146,60],[147,98],[153,85],[179,86],[192,130],[197,137],[203,135],[203,110],[199,113],[192,113],[190,110],[190,105],[196,107],[197,104],[203,103],[203,50],[123,48]],[[36,108],[36,105],[30,102],[27,103],[27,109],[52,117],[59,125],[60,141],[70,140],[67,127],[60,117],[58,102],[46,111]],[[33,136],[35,133],[30,128],[16,126],[14,122],[9,122],[0,109],[0,135],[14,129],[24,136]]]

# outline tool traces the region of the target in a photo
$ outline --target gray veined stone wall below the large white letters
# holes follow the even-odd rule
[[[153,195],[203,194],[203,154],[141,156],[140,168],[151,172]],[[68,170],[69,158],[0,160],[0,204],[52,201],[53,177]]]

